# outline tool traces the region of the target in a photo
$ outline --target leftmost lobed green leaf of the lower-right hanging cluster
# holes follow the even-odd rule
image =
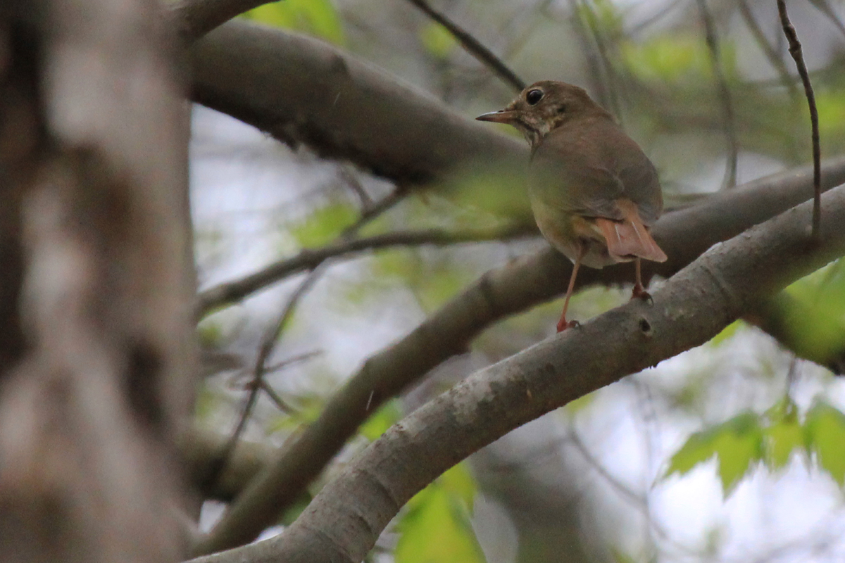
[[[672,456],[665,477],[686,474],[699,463],[717,457],[722,490],[730,495],[734,487],[763,457],[760,417],[744,413],[702,432],[696,432]]]

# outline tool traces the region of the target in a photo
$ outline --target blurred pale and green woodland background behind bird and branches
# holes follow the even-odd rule
[[[815,88],[823,157],[845,152],[843,4],[788,3]],[[431,6],[527,83],[557,79],[585,87],[657,166],[668,208],[810,162],[804,91],[774,0]],[[248,17],[351,51],[468,118],[515,95],[406,0],[286,0]],[[517,134],[507,127],[501,133]],[[194,108],[191,167],[200,289],[324,246],[355,225],[361,209],[396,190],[201,106]],[[485,190],[475,178],[449,190],[412,192],[358,232],[530,226],[521,187],[513,190]],[[266,376],[276,398],[259,395],[244,435],[266,447],[285,447],[363,360],[482,273],[545,244],[523,232],[345,256],[309,274],[307,290],[298,290],[301,274],[215,311],[199,325],[206,377],[197,424],[232,433],[261,341],[286,307],[292,314],[275,333]],[[832,264],[790,288],[811,306],[810,340],[841,341],[841,270]],[[629,292],[582,291],[571,314],[592,317]],[[404,414],[472,371],[551,336],[560,306],[554,301],[499,322],[466,354],[380,409],[311,493]],[[406,506],[370,560],[842,560],[843,409],[840,378],[739,321],[710,343],[525,425],[453,468]],[[206,527],[222,506],[206,503]]]

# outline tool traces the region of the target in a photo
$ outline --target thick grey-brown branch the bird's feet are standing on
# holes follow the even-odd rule
[[[845,253],[845,187],[810,244],[804,203],[713,246],[653,294],[491,365],[408,415],[315,497],[281,536],[194,563],[357,563],[412,495],[516,427],[704,344],[760,297]],[[408,471],[407,468],[414,468]]]

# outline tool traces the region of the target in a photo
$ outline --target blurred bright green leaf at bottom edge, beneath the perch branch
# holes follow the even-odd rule
[[[408,502],[398,528],[396,563],[483,563],[470,523],[475,481],[461,463]]]

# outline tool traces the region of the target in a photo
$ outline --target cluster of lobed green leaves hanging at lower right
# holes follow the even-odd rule
[[[845,414],[819,401],[801,424],[795,403],[782,398],[765,414],[739,414],[690,436],[671,457],[664,479],[674,473],[686,474],[715,456],[722,490],[730,495],[757,463],[777,472],[796,454],[815,459],[823,471],[845,486]]]

